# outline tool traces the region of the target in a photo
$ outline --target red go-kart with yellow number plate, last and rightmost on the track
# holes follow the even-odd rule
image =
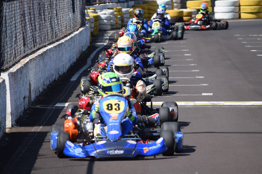
[[[213,19],[208,22],[208,19],[205,17],[204,12],[198,13],[193,19],[191,19],[188,23],[182,23],[185,29],[190,30],[207,30],[207,29],[227,29],[228,22],[222,21],[219,25],[216,22],[221,22],[220,19]]]

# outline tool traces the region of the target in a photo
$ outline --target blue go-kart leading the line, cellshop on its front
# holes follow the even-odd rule
[[[89,121],[87,110],[79,109],[75,115],[64,117],[64,125],[55,124],[50,128],[51,149],[57,150],[59,158],[133,158],[161,153],[172,156],[182,151],[183,133],[177,122],[164,122],[161,130],[150,130],[138,116],[133,133],[122,136],[120,123],[126,118],[130,105],[121,94],[107,94],[100,99],[100,115],[96,117],[101,116],[106,122],[106,125],[100,124],[101,136],[94,136],[94,125]]]

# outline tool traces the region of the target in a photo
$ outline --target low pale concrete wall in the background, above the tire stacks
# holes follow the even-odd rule
[[[131,8],[134,4],[142,4],[142,1],[128,1],[123,3],[108,3],[108,4],[100,4],[100,5],[86,5],[85,8],[95,8],[96,10],[103,10],[107,8],[113,7],[122,7],[122,8]]]

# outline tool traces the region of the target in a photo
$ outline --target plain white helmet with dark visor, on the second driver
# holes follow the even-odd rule
[[[114,72],[120,77],[130,79],[134,71],[134,59],[127,53],[119,53],[113,60]]]

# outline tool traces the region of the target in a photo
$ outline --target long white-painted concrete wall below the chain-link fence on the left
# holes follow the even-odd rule
[[[68,37],[22,59],[7,72],[1,73],[2,78],[6,80],[7,90],[6,127],[12,127],[37,95],[66,72],[89,45],[90,28],[87,24]]]

